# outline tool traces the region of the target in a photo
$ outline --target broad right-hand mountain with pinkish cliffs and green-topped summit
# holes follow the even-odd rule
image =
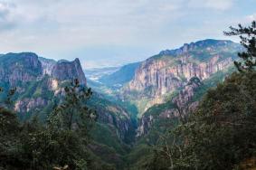
[[[143,113],[165,102],[166,96],[184,88],[191,78],[206,80],[227,69],[241,50],[231,41],[204,40],[160,52],[141,63],[133,80],[123,88],[122,98],[134,100]]]

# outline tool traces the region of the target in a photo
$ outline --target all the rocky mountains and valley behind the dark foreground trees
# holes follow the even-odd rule
[[[175,125],[176,118],[194,110],[205,91],[233,71],[241,51],[238,43],[208,39],[146,61],[85,73],[79,59],[7,53],[0,56],[0,86],[16,88],[14,109],[23,120],[35,116],[32,113],[45,120],[74,79],[92,88],[89,105],[99,119],[91,133],[91,152],[122,169],[147,159],[143,155],[151,151],[146,144],[156,144],[157,134],[166,133],[166,122]]]

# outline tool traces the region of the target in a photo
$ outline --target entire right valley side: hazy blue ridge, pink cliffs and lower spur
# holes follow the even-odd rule
[[[242,50],[239,43],[226,40],[185,43],[125,65],[102,76],[100,83],[90,82],[96,90],[132,106],[137,130],[128,165],[141,165],[154,152],[152,146],[159,137],[176,126],[180,115],[194,111],[207,90],[235,71],[233,61]],[[119,88],[113,88],[115,84]]]

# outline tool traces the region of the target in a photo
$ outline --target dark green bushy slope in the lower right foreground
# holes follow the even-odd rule
[[[235,169],[256,154],[256,72],[233,73],[209,90],[147,169]]]

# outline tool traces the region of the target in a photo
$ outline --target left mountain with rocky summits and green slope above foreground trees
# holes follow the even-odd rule
[[[16,87],[16,93],[22,97],[14,104],[14,109],[18,112],[43,109],[63,80],[74,79],[79,79],[81,84],[86,85],[79,59],[56,62],[39,58],[33,52],[0,56],[0,81],[5,87]]]

